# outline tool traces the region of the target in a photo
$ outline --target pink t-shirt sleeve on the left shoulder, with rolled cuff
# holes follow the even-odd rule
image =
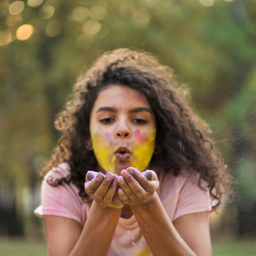
[[[34,211],[36,216],[43,218],[45,215],[71,218],[79,223],[81,221],[81,199],[78,191],[70,184],[52,186],[43,180],[41,186],[41,205]]]

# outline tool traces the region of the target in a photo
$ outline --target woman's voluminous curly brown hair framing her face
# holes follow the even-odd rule
[[[79,77],[72,97],[55,121],[62,136],[44,168],[47,172],[67,162],[71,172],[52,185],[71,181],[79,188],[79,195],[83,199],[87,197],[85,175],[88,170],[97,171],[98,167],[93,151],[86,147],[90,138],[90,114],[99,92],[117,83],[139,90],[152,106],[157,125],[157,153],[153,154],[150,167],[158,173],[173,175],[200,173],[198,185],[202,179],[207,182],[211,198],[216,201],[214,207],[218,207],[228,192],[231,175],[209,138],[210,130],[188,106],[188,90],[177,84],[173,70],[141,50],[106,52]]]

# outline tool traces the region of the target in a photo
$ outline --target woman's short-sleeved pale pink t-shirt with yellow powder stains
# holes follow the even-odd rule
[[[54,180],[69,174],[69,165],[63,163],[49,171],[45,180],[50,176]],[[197,178],[184,177],[183,175],[174,177],[171,174],[162,175],[158,178],[160,185],[157,194],[171,221],[186,214],[211,211],[209,191],[199,188]],[[36,208],[34,213],[42,218],[45,215],[71,218],[84,225],[91,204],[81,200],[78,195],[78,188],[71,182],[54,187],[45,180],[43,180],[41,187],[41,205]],[[129,219],[119,219],[108,253],[108,256],[130,255],[152,255],[134,215]]]

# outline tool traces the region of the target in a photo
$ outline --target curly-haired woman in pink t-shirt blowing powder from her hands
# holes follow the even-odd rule
[[[79,78],[35,210],[49,255],[211,255],[209,213],[230,176],[184,94],[129,49]]]

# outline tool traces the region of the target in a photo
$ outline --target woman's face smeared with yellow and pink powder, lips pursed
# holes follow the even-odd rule
[[[138,90],[108,85],[92,108],[90,134],[101,171],[120,175],[130,166],[144,171],[155,148],[155,115]]]

